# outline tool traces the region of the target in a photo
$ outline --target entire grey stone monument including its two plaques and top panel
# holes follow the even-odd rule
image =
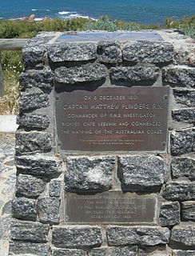
[[[172,30],[28,42],[10,255],[195,255],[193,45]]]

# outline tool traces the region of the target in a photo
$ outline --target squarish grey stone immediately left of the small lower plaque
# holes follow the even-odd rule
[[[60,222],[59,207],[59,198],[39,198],[38,218],[40,222],[58,224]]]

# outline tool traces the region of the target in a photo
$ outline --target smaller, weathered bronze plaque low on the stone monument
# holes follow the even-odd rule
[[[121,191],[66,194],[66,220],[72,223],[154,222],[157,198]]]

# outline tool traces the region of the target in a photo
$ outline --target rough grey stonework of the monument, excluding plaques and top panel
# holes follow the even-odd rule
[[[55,42],[60,33],[43,33],[23,49],[10,255],[195,255],[193,42],[173,31],[157,33],[164,41]],[[57,85],[170,86],[166,152],[61,156]],[[115,190],[119,169],[117,182],[128,191],[136,186],[138,194],[157,195],[155,224],[64,222],[64,191]]]

